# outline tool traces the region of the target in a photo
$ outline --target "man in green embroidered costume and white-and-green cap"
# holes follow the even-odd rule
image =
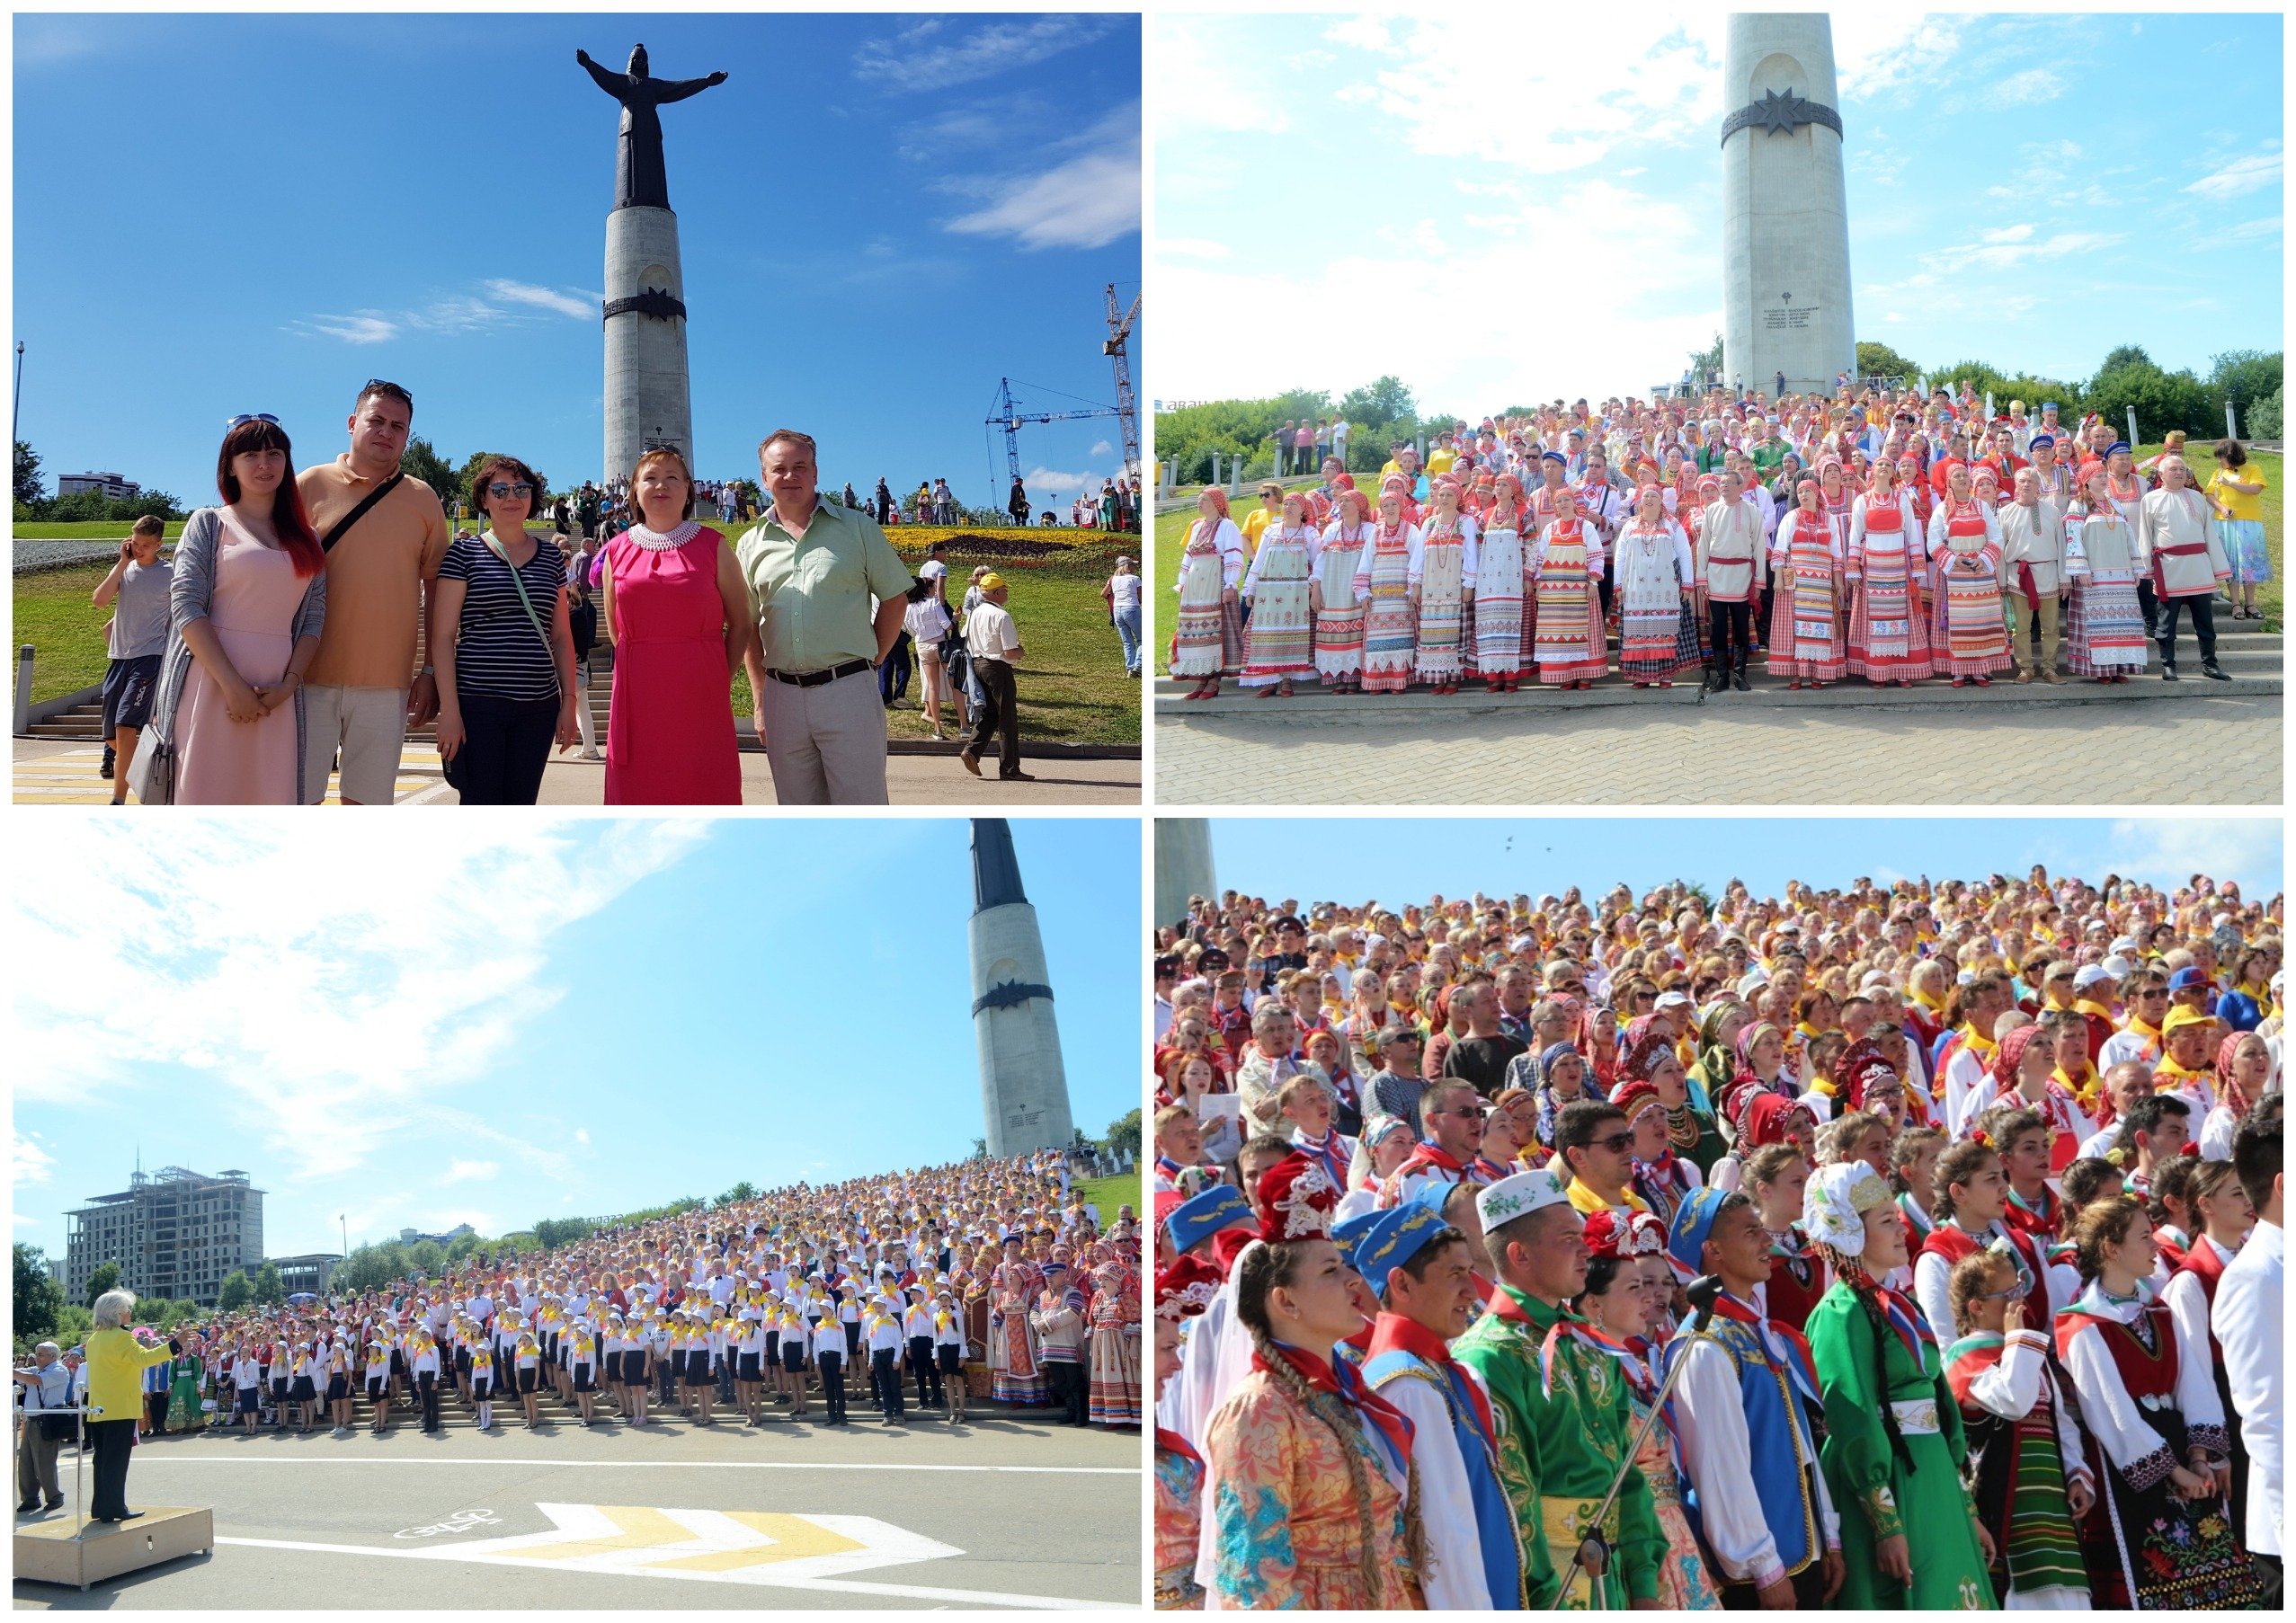
[[[1548,1612],[1635,1439],[1635,1412],[1614,1357],[1568,1306],[1587,1286],[1587,1240],[1554,1173],[1541,1166],[1502,1178],[1476,1196],[1476,1210],[1499,1288],[1451,1354],[1490,1389],[1499,1481],[1525,1529],[1525,1584],[1531,1609]],[[1667,1536],[1639,1469],[1626,1474],[1603,1538],[1609,1570],[1582,1575],[1570,1609],[1660,1609]]]

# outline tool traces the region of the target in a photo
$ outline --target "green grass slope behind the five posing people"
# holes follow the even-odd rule
[[[1013,539],[1042,537],[1015,530]],[[994,562],[1010,588],[1006,608],[1019,622],[1024,654],[1017,673],[1022,737],[1061,744],[1141,741],[1141,684],[1125,675],[1123,645],[1109,624],[1107,604],[1100,601],[1100,583],[1109,578],[1116,558],[1137,553],[1137,535],[1107,535],[1045,558],[994,558],[994,546],[976,556],[962,542],[948,549],[948,569],[960,583],[960,599],[974,562]],[[921,551],[909,558],[912,565],[921,560]],[[96,608],[87,597],[108,572],[108,562],[90,562],[16,576],[16,645],[30,643],[37,650],[34,702],[103,680],[103,627],[110,622],[110,611]],[[902,709],[886,714],[891,737],[932,737],[923,712],[914,707],[918,698],[921,686],[912,677]],[[748,680],[739,675],[732,684],[732,709],[744,719],[751,709]],[[955,728],[955,714],[946,707],[941,728],[944,732]]]

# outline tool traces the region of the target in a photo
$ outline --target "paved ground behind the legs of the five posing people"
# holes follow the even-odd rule
[[[99,744],[51,744],[16,739],[18,806],[99,806],[110,799],[96,767]],[[1022,755],[1022,771],[1035,783],[999,783],[996,760],[976,778],[953,755],[891,755],[886,787],[895,806],[1139,806],[1141,764],[1137,760],[1038,760]],[[335,783],[328,781],[328,803]],[[542,774],[542,806],[599,806],[606,799],[606,764],[576,755],[551,755]],[[409,741],[400,758],[397,801],[402,806],[455,806],[455,790],[439,776],[439,751]],[[765,755],[742,755],[742,803],[771,806],[774,774]]]

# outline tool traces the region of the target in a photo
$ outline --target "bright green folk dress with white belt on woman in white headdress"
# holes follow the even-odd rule
[[[1910,1318],[1913,1306],[1903,1304]],[[1945,1359],[1929,1338],[1919,1357],[1906,1338],[1874,1320],[1844,1281],[1809,1311],[1809,1354],[1825,1396],[1825,1442],[1818,1465],[1841,1513],[1841,1561],[1848,1577],[1835,1607],[1913,1612],[1993,1612],[1993,1582],[1977,1545],[1961,1462],[1961,1405],[1945,1380]],[[1878,1357],[1876,1357],[1878,1350]],[[1887,1384],[1885,1391],[1878,1387]],[[1901,1462],[1883,1430],[1883,1403],[1899,1421],[1910,1460]],[[1883,1575],[1874,1545],[1906,1536],[1913,1584]]]

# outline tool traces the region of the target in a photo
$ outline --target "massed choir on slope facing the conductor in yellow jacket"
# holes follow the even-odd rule
[[[188,1322],[147,1426],[850,1426],[847,1391],[882,1426],[962,1423],[980,1370],[999,1405],[1139,1426],[1139,1295],[1130,1210],[1102,1228],[1056,1152],[978,1159]]]

